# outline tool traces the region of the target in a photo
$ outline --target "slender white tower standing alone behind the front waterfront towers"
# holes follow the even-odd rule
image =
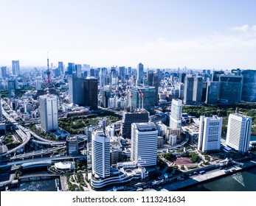
[[[181,128],[182,101],[173,99],[170,112],[170,129]]]

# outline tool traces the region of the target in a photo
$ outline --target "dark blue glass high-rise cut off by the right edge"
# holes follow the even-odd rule
[[[256,102],[256,70],[243,70],[242,99],[245,102]]]

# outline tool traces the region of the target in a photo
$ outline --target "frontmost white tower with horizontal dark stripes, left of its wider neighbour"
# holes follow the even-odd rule
[[[96,178],[110,176],[110,138],[103,129],[95,129],[91,135],[91,172]]]

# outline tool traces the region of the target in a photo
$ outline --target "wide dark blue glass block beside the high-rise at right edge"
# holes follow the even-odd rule
[[[227,102],[241,102],[243,77],[235,75],[221,75],[219,99]]]

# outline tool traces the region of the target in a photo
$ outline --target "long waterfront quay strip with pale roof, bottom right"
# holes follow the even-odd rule
[[[198,174],[196,176],[190,177],[187,180],[183,180],[181,182],[175,182],[168,184],[168,191],[183,191],[185,188],[190,188],[195,185],[202,184],[204,182],[210,182],[212,180],[219,179],[221,177],[229,176],[230,174],[235,174],[239,171],[245,171],[249,168],[256,167],[256,160],[251,160],[249,162],[244,163],[243,167],[238,166],[229,166],[225,169],[215,169],[213,171],[208,171],[205,174]],[[165,185],[162,188],[166,188]]]

